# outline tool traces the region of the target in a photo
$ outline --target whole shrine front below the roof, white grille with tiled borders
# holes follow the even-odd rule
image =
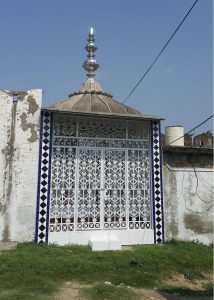
[[[162,242],[159,123],[52,117],[42,115],[36,240]]]

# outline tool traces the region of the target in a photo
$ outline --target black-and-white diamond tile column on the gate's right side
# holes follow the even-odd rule
[[[152,121],[152,188],[153,188],[153,224],[155,243],[164,242],[162,161],[160,143],[160,122]]]

